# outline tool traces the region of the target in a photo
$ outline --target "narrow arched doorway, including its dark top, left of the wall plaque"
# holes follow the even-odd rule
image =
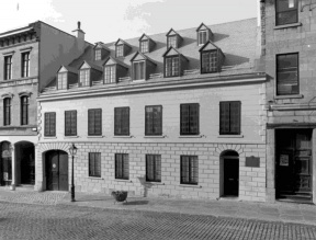
[[[239,155],[225,151],[221,155],[221,195],[235,196],[239,193]]]

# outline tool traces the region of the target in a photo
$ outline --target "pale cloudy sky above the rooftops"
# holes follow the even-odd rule
[[[0,33],[41,20],[90,43],[257,18],[259,0],[0,0]],[[5,23],[5,24],[3,24]],[[72,34],[72,33],[71,33]]]

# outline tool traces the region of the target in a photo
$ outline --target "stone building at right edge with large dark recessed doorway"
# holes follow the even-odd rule
[[[267,82],[267,196],[316,203],[316,10],[304,0],[262,0]]]

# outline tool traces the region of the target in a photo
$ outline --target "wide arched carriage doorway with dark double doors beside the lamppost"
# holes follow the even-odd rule
[[[68,191],[68,153],[50,150],[45,153],[46,190]]]

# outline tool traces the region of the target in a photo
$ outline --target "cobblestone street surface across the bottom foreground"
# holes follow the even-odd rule
[[[316,227],[174,213],[0,203],[1,240],[316,239]]]

